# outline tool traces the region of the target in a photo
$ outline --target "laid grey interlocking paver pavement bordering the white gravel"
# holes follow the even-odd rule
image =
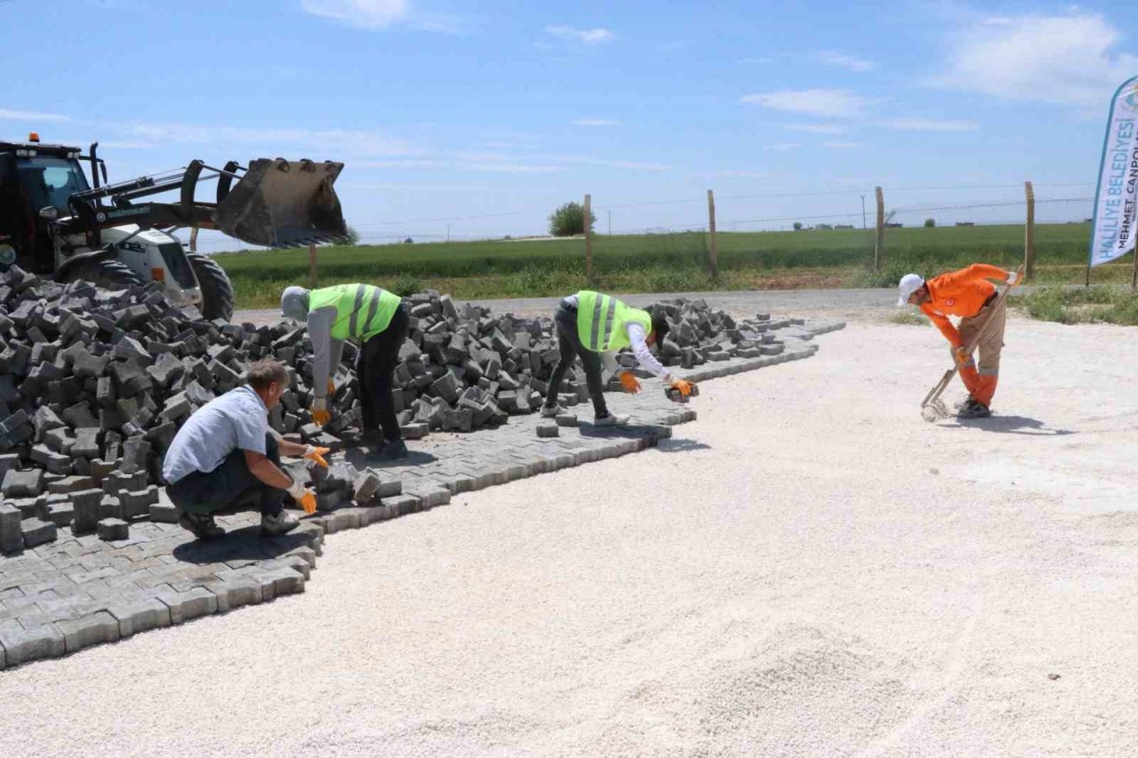
[[[805,330],[817,335],[842,326],[810,323]],[[809,357],[817,345],[803,337],[787,340],[781,355],[683,373],[703,381]],[[640,395],[607,396],[615,412],[630,417],[621,428],[593,427],[586,404],[569,409],[580,411],[580,423],[558,427],[555,437],[538,437],[545,420],[531,414],[493,430],[430,435],[410,443],[410,458],[398,464],[349,448],[339,455],[398,480],[402,494],[370,508],[318,512],[281,537],[262,537],[259,514],[251,512],[218,517],[228,534],[206,543],[178,525],[152,521],[132,524],[130,537],[114,542],[60,530],[55,542],[0,558],[0,668],[303,592],[328,534],[445,505],[453,494],[653,446],[671,436],[671,427],[694,421],[699,403],[675,404],[658,389],[648,382]]]

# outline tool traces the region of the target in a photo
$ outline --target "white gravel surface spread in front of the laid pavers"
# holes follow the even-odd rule
[[[0,753],[1135,755],[1136,336],[1009,323],[960,426],[934,330],[851,324],[304,595],[0,673]]]

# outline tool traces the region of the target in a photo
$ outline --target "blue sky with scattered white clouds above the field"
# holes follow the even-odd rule
[[[8,0],[0,134],[98,140],[113,180],[341,160],[373,240],[541,233],[585,192],[600,231],[698,225],[707,189],[720,229],[860,224],[875,184],[889,208],[1092,195],[1128,8]]]

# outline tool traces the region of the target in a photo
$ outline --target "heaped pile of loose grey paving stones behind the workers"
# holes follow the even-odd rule
[[[501,425],[539,407],[559,359],[551,319],[460,308],[435,291],[407,300],[412,319],[394,396],[409,438]],[[781,337],[791,326],[766,314],[736,322],[702,300],[654,307],[673,327],[661,360],[684,368],[777,354],[782,344],[770,332]],[[270,414],[273,428],[340,447],[358,431],[355,352],[345,346],[338,414],[321,428],[307,411],[312,352],[303,328],[205,321],[197,308],[172,305],[158,283],[109,291],[9,267],[0,273],[0,551],[53,539],[59,528],[115,539],[129,535],[131,520],[176,519],[159,504],[163,455],[191,413],[241,384],[263,357],[292,374]],[[630,356],[621,361],[633,364]],[[562,393],[568,404],[588,398],[579,365]],[[374,471],[341,468],[314,478],[325,505],[398,495],[398,483]]]

